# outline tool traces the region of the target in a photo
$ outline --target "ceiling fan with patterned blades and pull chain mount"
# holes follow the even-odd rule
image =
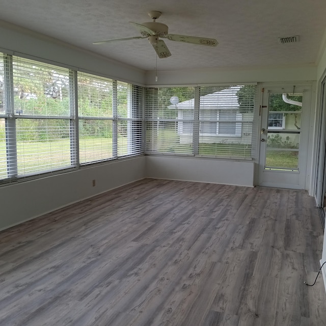
[[[184,42],[184,43],[192,43],[199,45],[207,45],[207,46],[216,46],[218,45],[218,41],[215,39],[209,39],[206,37],[196,37],[196,36],[186,36],[186,35],[177,35],[177,34],[169,34],[168,26],[166,24],[156,22],[156,19],[161,15],[160,11],[150,11],[148,15],[153,19],[153,21],[147,21],[142,24],[137,22],[129,21],[131,25],[133,25],[136,29],[141,32],[142,36],[134,36],[127,37],[124,39],[116,39],[116,40],[108,40],[108,41],[100,41],[94,42],[93,44],[103,44],[117,41],[126,41],[126,40],[135,40],[135,39],[148,39],[149,43],[153,46],[154,50],[157,53],[158,58],[168,58],[171,56],[171,52],[168,49],[167,45],[163,40],[159,38],[168,39],[170,41]]]

